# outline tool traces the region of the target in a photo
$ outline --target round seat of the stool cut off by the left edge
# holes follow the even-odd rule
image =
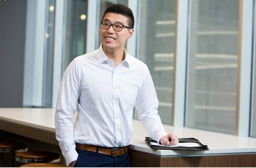
[[[9,150],[27,150],[27,145],[20,142],[6,142],[0,141],[0,151],[9,151]]]

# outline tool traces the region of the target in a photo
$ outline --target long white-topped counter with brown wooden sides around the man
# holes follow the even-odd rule
[[[55,109],[51,108],[0,108],[0,130],[58,146],[54,114]],[[165,126],[165,129],[179,138],[197,138],[210,150],[152,150],[144,141],[147,132],[141,122],[134,120],[134,139],[129,146],[132,166],[256,166],[256,138],[186,127]]]

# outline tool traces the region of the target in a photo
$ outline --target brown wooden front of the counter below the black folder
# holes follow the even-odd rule
[[[255,154],[160,157],[130,150],[132,167],[256,167]]]

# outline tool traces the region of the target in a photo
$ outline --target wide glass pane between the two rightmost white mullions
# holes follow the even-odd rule
[[[235,133],[239,1],[190,1],[188,127]]]

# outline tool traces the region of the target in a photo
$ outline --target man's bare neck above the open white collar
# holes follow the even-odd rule
[[[108,59],[114,60],[115,66],[119,65],[122,60],[125,59],[125,50],[120,48],[118,50],[108,49],[103,46],[103,51],[107,55]]]

